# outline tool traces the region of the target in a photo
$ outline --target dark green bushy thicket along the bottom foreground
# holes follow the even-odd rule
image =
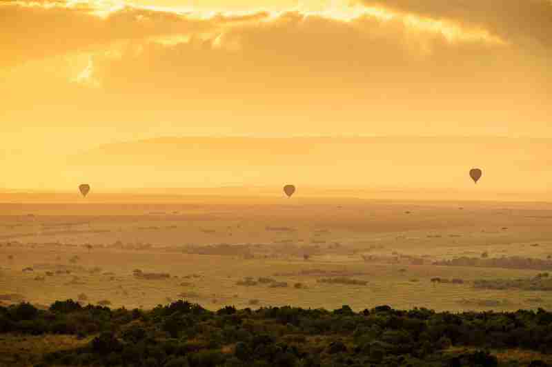
[[[0,333],[4,341],[21,335],[81,341],[43,350],[39,366],[547,366],[552,313],[389,306],[361,313],[348,306],[213,312],[182,300],[143,311],[68,300],[48,310],[0,307]]]

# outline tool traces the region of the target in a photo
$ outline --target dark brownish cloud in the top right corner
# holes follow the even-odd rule
[[[552,48],[550,0],[362,0],[420,17],[454,21],[488,30],[515,43],[538,43]]]

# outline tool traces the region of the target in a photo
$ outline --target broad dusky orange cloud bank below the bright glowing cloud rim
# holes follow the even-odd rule
[[[515,48],[480,39],[451,43],[439,32],[413,30],[402,19],[344,22],[288,12],[175,45],[142,43],[139,54],[106,60],[101,78],[111,90],[136,83],[138,88],[130,89],[155,85],[156,92],[177,89],[220,98],[260,94],[274,102],[284,95],[339,98],[344,91],[347,98],[392,95],[424,103],[527,92],[535,86],[524,86],[523,80],[544,72],[531,70],[544,60],[524,59]],[[523,73],[520,79],[517,72]],[[515,81],[520,85],[512,88]]]

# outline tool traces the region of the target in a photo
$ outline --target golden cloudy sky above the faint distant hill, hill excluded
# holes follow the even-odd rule
[[[551,56],[551,0],[0,0],[2,186],[158,137],[552,137]]]

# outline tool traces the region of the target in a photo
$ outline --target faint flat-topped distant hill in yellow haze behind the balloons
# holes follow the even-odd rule
[[[469,137],[167,137],[100,146],[70,157],[117,187],[304,186],[546,190],[552,139]],[[132,184],[140,180],[140,185]]]

